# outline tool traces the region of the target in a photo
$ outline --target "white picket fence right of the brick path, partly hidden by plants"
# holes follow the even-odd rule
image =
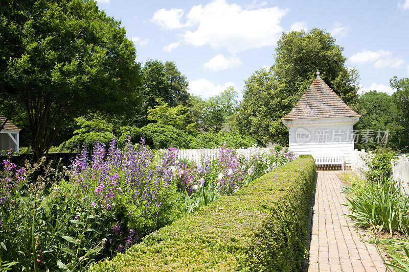
[[[356,175],[365,178],[365,173],[369,170],[366,160],[370,160],[372,154],[365,152],[365,150],[354,150],[351,155],[351,170]],[[397,154],[392,159],[391,164],[393,179],[402,182],[403,187],[408,188],[409,158],[407,157],[407,154]]]

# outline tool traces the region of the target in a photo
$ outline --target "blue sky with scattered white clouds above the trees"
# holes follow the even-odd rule
[[[122,21],[137,61],[173,61],[190,92],[208,98],[233,86],[239,93],[257,69],[274,64],[283,32],[320,28],[344,47],[360,92],[393,93],[389,80],[409,77],[409,0],[98,0]]]

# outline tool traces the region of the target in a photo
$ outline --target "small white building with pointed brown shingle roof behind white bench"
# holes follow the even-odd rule
[[[289,149],[298,154],[340,154],[347,166],[351,162],[360,115],[317,77],[296,106],[281,118],[288,128]]]

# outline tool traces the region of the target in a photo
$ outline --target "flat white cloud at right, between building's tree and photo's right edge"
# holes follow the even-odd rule
[[[363,49],[352,55],[349,60],[352,64],[362,65],[373,63],[375,68],[399,68],[404,61],[401,58],[392,57],[392,52],[385,50],[370,51]]]

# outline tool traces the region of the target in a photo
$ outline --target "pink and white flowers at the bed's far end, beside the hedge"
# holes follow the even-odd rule
[[[298,158],[286,147],[269,152],[254,148],[249,156],[241,156],[223,144],[215,160],[205,156],[196,165],[178,161],[178,152],[178,149],[170,147],[165,157],[172,158],[174,162],[169,170],[173,174],[172,180],[184,194],[186,212],[193,212],[222,195],[233,193],[244,184]]]

